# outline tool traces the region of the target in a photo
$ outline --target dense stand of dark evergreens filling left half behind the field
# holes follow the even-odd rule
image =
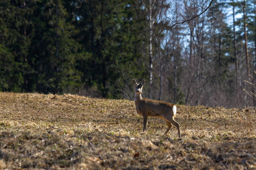
[[[1,91],[122,97],[142,57],[136,1],[2,1]]]

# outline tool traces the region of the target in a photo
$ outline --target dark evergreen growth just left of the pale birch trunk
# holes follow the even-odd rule
[[[136,67],[141,39],[133,30],[139,24],[135,5],[127,0],[88,1],[77,11],[77,40],[85,53],[79,66],[82,80],[103,97],[121,97],[127,77],[146,72]]]

